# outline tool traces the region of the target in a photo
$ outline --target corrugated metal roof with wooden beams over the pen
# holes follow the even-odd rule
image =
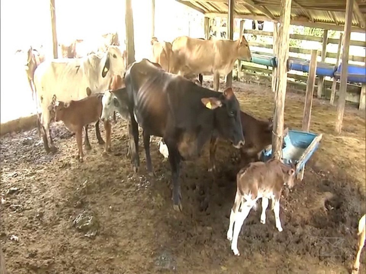
[[[208,16],[228,12],[227,0],[176,0]],[[353,30],[365,31],[366,0],[355,0],[359,13],[353,14]],[[267,21],[279,20],[281,0],[236,0],[235,16]],[[346,0],[292,0],[291,23],[317,26],[316,23],[332,24],[335,29],[343,27],[346,16]],[[363,19],[362,19],[363,18]],[[360,22],[361,21],[361,22]],[[363,21],[363,22],[362,22]],[[322,26],[318,26],[322,27]],[[324,28],[332,28],[324,25]]]

